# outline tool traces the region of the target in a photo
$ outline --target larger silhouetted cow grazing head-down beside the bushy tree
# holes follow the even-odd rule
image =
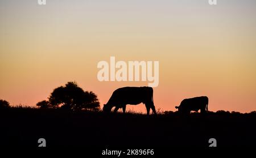
[[[123,109],[125,113],[126,105],[137,105],[143,103],[146,106],[147,114],[150,114],[150,108],[156,114],[155,105],[153,101],[152,87],[123,87],[116,89],[110,97],[107,104],[104,104],[103,111],[111,112],[115,106],[114,112],[119,108]]]

